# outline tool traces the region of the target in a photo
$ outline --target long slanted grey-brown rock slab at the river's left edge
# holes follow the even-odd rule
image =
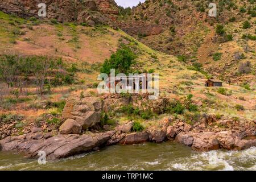
[[[40,135],[41,138],[35,138]],[[24,152],[30,158],[35,158],[39,151],[46,152],[48,160],[67,158],[68,156],[92,151],[104,145],[112,136],[113,131],[87,135],[56,135],[26,134],[19,137],[7,137],[0,140],[1,150]]]

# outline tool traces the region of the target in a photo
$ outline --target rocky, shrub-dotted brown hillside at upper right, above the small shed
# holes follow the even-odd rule
[[[119,17],[119,26],[157,51],[202,64],[213,77],[254,86],[255,1],[213,2],[216,18],[208,16],[208,2],[148,0]]]

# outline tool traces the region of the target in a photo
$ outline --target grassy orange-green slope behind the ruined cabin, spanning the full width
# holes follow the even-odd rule
[[[22,115],[24,125],[42,120],[57,125],[65,98],[70,94],[78,94],[80,97],[98,96],[97,75],[101,64],[122,45],[137,55],[133,65],[135,71],[159,73],[161,97],[181,100],[193,94],[192,100],[199,110],[191,114],[214,113],[247,119],[256,117],[255,88],[226,83],[222,89],[205,88],[204,83],[210,75],[199,65],[188,64],[182,56],[175,57],[155,51],[121,30],[115,31],[105,26],[93,28],[73,23],[60,24],[50,20],[42,22],[20,19],[3,13],[0,15],[1,55],[16,54],[24,57],[24,60],[31,56],[35,60],[39,60],[40,56],[51,60],[61,58],[61,72],[64,73],[64,77],[58,77],[59,74],[53,74],[52,70],[42,95],[36,83],[31,81],[36,77],[32,73],[26,75],[30,81],[23,85],[22,93],[17,83],[7,88],[6,82],[2,80],[0,114],[3,118]],[[19,33],[16,34],[16,31]],[[65,74],[71,75],[72,81],[65,81]],[[57,85],[49,81],[56,78],[64,80]],[[164,115],[149,120],[158,121],[162,117]],[[179,117],[186,116],[180,114]],[[147,121],[143,119],[142,122]]]

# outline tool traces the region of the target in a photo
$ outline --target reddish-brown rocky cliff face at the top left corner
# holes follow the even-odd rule
[[[38,16],[39,3],[46,3],[48,19],[59,22],[112,24],[118,14],[117,5],[113,0],[1,0],[0,10],[28,18]]]

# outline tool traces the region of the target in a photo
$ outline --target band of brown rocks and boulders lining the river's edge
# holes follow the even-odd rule
[[[159,121],[157,126],[138,133],[133,132],[133,121],[114,128],[108,125],[101,128],[99,123],[102,109],[108,110],[114,108],[111,106],[118,107],[126,102],[127,98],[69,98],[61,118],[63,124],[57,133],[45,133],[34,127],[30,133],[0,140],[0,150],[24,152],[30,158],[35,158],[39,151],[45,151],[47,159],[54,160],[100,150],[100,147],[113,144],[161,143],[166,140],[191,146],[197,151],[220,148],[245,150],[256,146],[254,121],[220,118],[216,115],[205,114],[193,125],[168,117]],[[155,102],[158,102],[155,104],[158,108],[164,107],[164,100]]]

